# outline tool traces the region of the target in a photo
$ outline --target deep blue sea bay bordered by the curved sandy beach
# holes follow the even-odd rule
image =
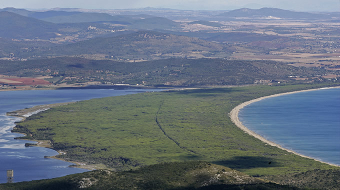
[[[243,107],[238,116],[270,141],[340,165],[340,88],[265,98]]]

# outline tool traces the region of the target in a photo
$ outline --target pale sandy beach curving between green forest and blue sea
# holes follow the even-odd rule
[[[276,96],[280,96],[280,95],[286,95],[286,94],[292,94],[292,93],[298,93],[298,92],[305,92],[305,91],[313,91],[313,90],[321,90],[321,89],[331,89],[331,88],[340,88],[340,86],[336,86],[336,87],[324,87],[324,88],[317,88],[317,89],[305,89],[305,90],[298,90],[298,91],[291,91],[291,92],[284,92],[284,93],[277,93],[277,94],[273,94],[273,95],[268,95],[268,96],[263,96],[263,97],[259,97],[259,98],[256,98],[256,99],[252,99],[250,101],[246,101],[246,102],[243,102],[239,105],[237,105],[236,107],[234,107],[229,115],[230,115],[230,118],[231,118],[231,121],[238,127],[240,128],[241,130],[243,130],[244,132],[248,133],[249,135],[251,136],[254,136],[255,138],[261,140],[262,142],[265,142],[267,144],[270,144],[272,146],[276,146],[278,148],[281,148],[283,150],[286,150],[290,153],[294,153],[296,155],[299,155],[299,156],[302,156],[302,157],[306,157],[306,158],[310,158],[310,159],[313,159],[315,161],[319,161],[319,162],[322,162],[322,163],[326,163],[326,164],[329,164],[329,165],[333,165],[333,166],[340,166],[340,165],[336,165],[336,164],[333,164],[333,163],[328,163],[328,162],[324,162],[324,161],[321,161],[321,160],[318,160],[318,159],[315,159],[313,157],[309,157],[309,156],[306,156],[306,155],[303,155],[303,154],[300,154],[300,153],[297,153],[293,150],[290,150],[290,149],[287,149],[287,148],[284,148],[282,147],[281,145],[275,143],[275,142],[272,142],[270,140],[267,140],[265,139],[264,137],[262,137],[261,135],[257,134],[256,132],[248,129],[247,127],[245,127],[243,125],[243,123],[239,120],[238,118],[238,112],[241,108],[243,108],[244,106],[250,104],[250,103],[253,103],[253,102],[256,102],[256,101],[260,101],[262,99],[265,99],[265,98],[269,98],[269,97],[276,97]]]

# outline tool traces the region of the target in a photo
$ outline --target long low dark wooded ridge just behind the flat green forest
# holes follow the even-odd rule
[[[24,64],[23,64],[24,63]],[[293,81],[291,75],[312,77],[329,71],[262,60],[162,59],[142,62],[57,57],[27,61],[0,60],[0,74],[67,77],[64,82],[99,81],[147,85],[225,85]],[[61,82],[61,80],[59,81]]]

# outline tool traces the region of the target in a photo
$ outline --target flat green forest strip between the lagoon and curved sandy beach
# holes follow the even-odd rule
[[[164,161],[206,160],[250,175],[334,168],[266,145],[228,113],[275,93],[335,85],[246,86],[149,92],[79,101],[17,123],[13,131],[50,140],[66,160],[125,170]],[[268,164],[271,163],[271,164]]]

